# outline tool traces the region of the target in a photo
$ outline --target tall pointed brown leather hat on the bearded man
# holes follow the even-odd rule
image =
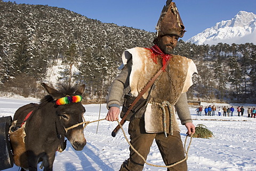
[[[172,0],[167,0],[157,22],[157,37],[163,35],[177,35],[183,37],[186,32],[185,26],[180,18],[179,11]]]

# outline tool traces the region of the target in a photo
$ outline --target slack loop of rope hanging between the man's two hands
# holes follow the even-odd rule
[[[188,136],[186,136],[185,143],[184,143],[184,150],[185,150],[186,156],[185,156],[184,159],[182,159],[182,160],[180,160],[180,161],[178,161],[178,162],[175,162],[175,163],[172,164],[172,165],[167,165],[167,166],[154,165],[154,164],[149,164],[149,163],[146,161],[146,159],[145,159],[137,150],[134,149],[134,147],[132,146],[132,144],[130,143],[130,141],[128,140],[128,138],[127,138],[127,136],[126,136],[122,125],[119,123],[119,120],[117,120],[117,122],[118,122],[120,128],[122,129],[122,132],[123,132],[123,134],[124,134],[124,137],[125,137],[126,141],[128,142],[128,144],[130,145],[130,147],[132,148],[132,150],[133,150],[135,153],[137,153],[138,156],[140,156],[141,159],[142,159],[147,165],[149,165],[149,166],[154,166],[154,167],[167,167],[167,168],[169,168],[169,167],[173,167],[173,166],[175,166],[175,165],[178,165],[178,164],[180,164],[181,162],[183,162],[183,161],[185,161],[185,160],[188,159],[188,150],[189,150],[190,145],[191,145],[191,142],[192,142],[192,137],[193,137],[192,135],[191,135],[191,137],[190,137],[190,142],[189,142],[189,144],[188,144],[187,150],[186,150],[186,142],[187,142],[187,137],[188,137]]]

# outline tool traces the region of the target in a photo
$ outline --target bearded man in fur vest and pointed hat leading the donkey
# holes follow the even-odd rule
[[[129,134],[132,146],[145,159],[155,139],[165,165],[174,164],[185,157],[175,111],[181,124],[187,127],[187,134],[195,133],[186,92],[193,84],[191,77],[197,70],[192,60],[171,55],[179,37],[185,32],[184,28],[175,3],[167,1],[157,24],[155,45],[150,49],[135,47],[123,53],[124,67],[111,85],[107,102],[109,111],[106,119],[117,120],[123,90],[129,87],[129,94],[138,96],[149,79],[159,69],[164,70],[154,86],[143,94],[143,99],[149,98],[146,110],[134,113],[129,123]],[[169,65],[164,67],[169,58]],[[163,106],[163,102],[168,103],[168,106]],[[143,169],[143,165],[141,157],[130,148],[130,158],[120,170],[139,171]],[[183,161],[167,170],[187,170],[187,162]]]

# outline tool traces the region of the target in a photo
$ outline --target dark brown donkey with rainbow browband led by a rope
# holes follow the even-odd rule
[[[40,161],[45,171],[52,170],[55,152],[66,148],[65,137],[77,151],[86,144],[83,125],[66,129],[83,122],[85,108],[81,95],[85,85],[62,86],[60,91],[42,85],[49,95],[39,104],[19,108],[13,117],[15,126],[10,128],[14,163],[21,170],[36,171]]]

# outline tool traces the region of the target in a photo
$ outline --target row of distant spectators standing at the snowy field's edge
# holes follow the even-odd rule
[[[224,106],[222,109],[221,107],[219,108],[216,108],[215,105],[209,105],[208,107],[205,107],[204,108],[204,116],[215,116],[215,113],[217,115],[217,112],[218,112],[218,115],[221,116],[221,113],[223,112],[223,116],[233,116],[234,114],[234,107],[231,106],[230,108],[226,108],[226,106]],[[244,116],[244,107],[240,107],[238,106],[236,108],[236,111],[237,111],[237,116]],[[203,112],[203,106],[199,106],[198,108],[196,108],[196,114],[198,116],[202,116],[202,112]],[[249,108],[247,110],[247,117],[248,118],[255,118],[256,117],[256,109],[255,108]]]

